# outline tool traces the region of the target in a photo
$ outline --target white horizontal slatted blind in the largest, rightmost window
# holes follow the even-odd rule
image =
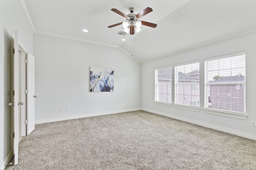
[[[245,53],[205,60],[205,107],[245,114]]]

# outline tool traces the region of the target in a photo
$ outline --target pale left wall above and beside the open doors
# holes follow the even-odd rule
[[[18,0],[0,1],[0,170],[12,157],[11,39],[18,30],[19,42],[33,53],[33,33]]]

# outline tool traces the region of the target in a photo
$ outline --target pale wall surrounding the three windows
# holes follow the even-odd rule
[[[153,113],[174,117],[256,140],[256,127],[251,126],[251,120],[256,120],[255,44],[256,34],[252,34],[142,64],[142,108]],[[200,60],[200,86],[204,87],[204,59],[240,51],[246,52],[246,114],[248,115],[246,120],[204,113],[202,110],[204,106],[204,88],[200,88],[201,109],[199,112],[178,109],[174,108],[174,106],[167,107],[154,104],[154,68],[168,65],[174,68],[174,64]],[[174,88],[172,89],[172,101],[174,101]],[[150,106],[150,103],[152,103],[152,106]]]

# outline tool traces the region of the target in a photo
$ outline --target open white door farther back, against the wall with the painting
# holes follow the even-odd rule
[[[27,53],[27,135],[35,129],[35,57]]]

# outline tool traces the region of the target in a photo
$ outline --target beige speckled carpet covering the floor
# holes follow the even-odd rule
[[[14,169],[255,170],[256,141],[132,111],[38,124]]]

